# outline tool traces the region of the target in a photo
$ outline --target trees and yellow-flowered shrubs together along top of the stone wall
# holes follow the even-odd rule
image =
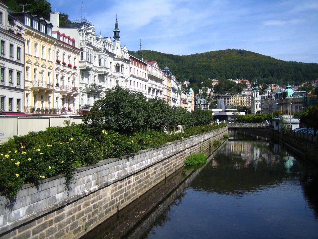
[[[120,97],[121,104],[114,103],[114,95]],[[120,158],[226,126],[209,124],[211,116],[205,111],[171,108],[160,99],[146,101],[141,95],[121,88],[107,91],[106,97],[95,102],[83,121],[79,125],[65,121],[65,127],[14,136],[1,145],[0,192],[15,197],[23,184],[58,174],[65,174],[68,186],[78,166]],[[184,132],[174,131],[176,125],[184,125]],[[20,142],[24,145],[21,152]]]

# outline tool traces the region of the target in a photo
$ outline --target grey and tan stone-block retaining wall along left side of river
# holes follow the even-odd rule
[[[64,177],[24,185],[16,202],[0,197],[0,238],[77,238],[183,166],[187,156],[213,147],[227,127],[80,167],[71,189]]]

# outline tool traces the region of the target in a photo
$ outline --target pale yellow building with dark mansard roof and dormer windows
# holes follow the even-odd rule
[[[30,12],[12,16],[25,25],[25,105],[27,113],[53,112],[54,106],[54,45],[53,25]]]

